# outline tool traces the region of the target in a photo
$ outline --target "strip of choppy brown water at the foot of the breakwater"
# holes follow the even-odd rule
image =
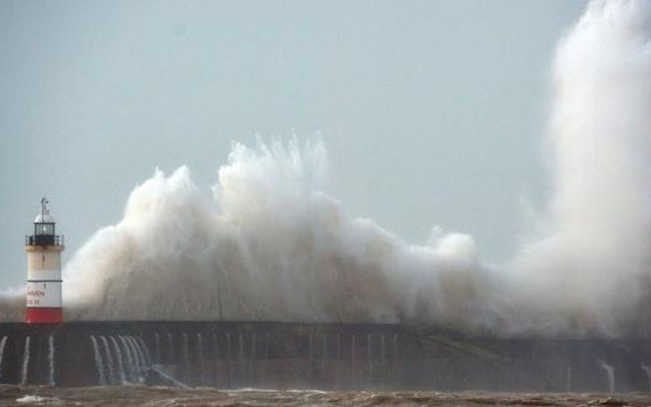
[[[651,395],[0,386],[0,406],[651,406]]]

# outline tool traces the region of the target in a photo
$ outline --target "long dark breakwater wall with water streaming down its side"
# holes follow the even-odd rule
[[[418,325],[0,324],[0,384],[651,391],[650,340],[505,339]]]

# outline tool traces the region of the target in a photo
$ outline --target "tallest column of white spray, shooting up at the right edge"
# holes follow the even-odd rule
[[[562,40],[546,236],[511,265],[533,324],[640,327],[651,276],[651,3],[593,1]]]

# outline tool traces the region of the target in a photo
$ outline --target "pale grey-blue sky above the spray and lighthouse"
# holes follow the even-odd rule
[[[0,289],[41,194],[69,259],[158,165],[209,194],[231,140],[321,132],[328,192],[501,261],[544,202],[549,65],[584,1],[0,0]]]

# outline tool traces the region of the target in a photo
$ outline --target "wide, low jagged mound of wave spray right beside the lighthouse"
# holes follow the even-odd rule
[[[187,168],[157,171],[70,261],[67,305],[84,319],[350,322],[481,306],[472,238],[412,247],[348,218],[317,187],[326,167],[320,141],[236,144],[212,201]]]

